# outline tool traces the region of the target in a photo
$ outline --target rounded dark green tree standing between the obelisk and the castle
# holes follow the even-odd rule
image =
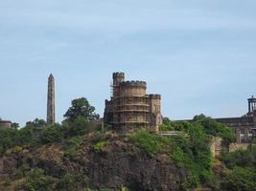
[[[84,117],[91,121],[100,117],[94,113],[95,107],[91,106],[85,97],[72,100],[71,105],[64,115],[66,121],[75,121],[79,117]]]

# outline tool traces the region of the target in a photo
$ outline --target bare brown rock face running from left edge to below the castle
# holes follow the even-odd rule
[[[54,177],[81,173],[88,177],[89,186],[95,189],[120,190],[126,186],[135,191],[170,191],[180,190],[186,180],[187,172],[177,168],[165,154],[150,157],[135,145],[118,138],[106,141],[100,150],[95,150],[93,144],[93,138],[84,138],[81,150],[71,157],[53,146],[44,146],[33,153],[12,152],[0,159],[0,176],[12,177],[14,169],[27,164],[32,168],[43,168]]]

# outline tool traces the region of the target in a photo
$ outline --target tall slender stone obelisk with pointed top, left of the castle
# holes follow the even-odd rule
[[[50,74],[47,93],[47,124],[53,123],[55,123],[55,77]]]

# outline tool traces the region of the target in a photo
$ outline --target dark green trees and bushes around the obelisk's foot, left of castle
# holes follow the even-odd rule
[[[64,139],[95,131],[98,126],[92,125],[91,121],[99,118],[99,115],[94,111],[95,108],[88,100],[81,97],[72,101],[62,124],[47,125],[44,119],[35,118],[20,129],[17,123],[13,123],[10,129],[0,129],[0,156],[13,146],[36,148],[42,144],[62,142]]]

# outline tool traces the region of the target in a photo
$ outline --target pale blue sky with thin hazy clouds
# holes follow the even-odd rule
[[[103,116],[113,72],[145,80],[171,119],[240,117],[256,96],[255,0],[0,1],[0,117],[56,117],[85,96]]]

